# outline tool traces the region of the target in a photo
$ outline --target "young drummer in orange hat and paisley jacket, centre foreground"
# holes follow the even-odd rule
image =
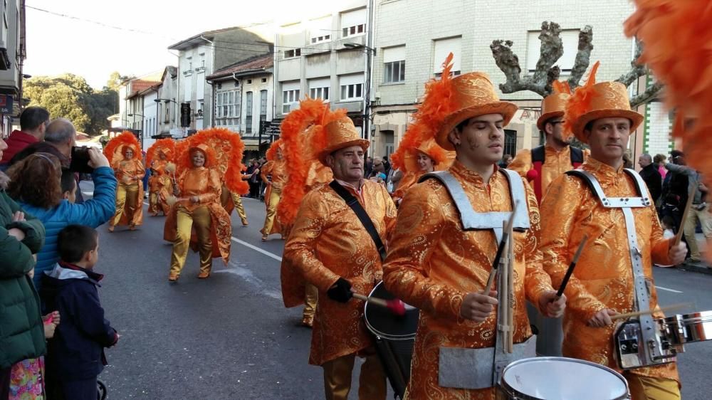
[[[503,153],[503,127],[516,105],[499,101],[483,73],[449,78],[444,72],[442,77],[427,86],[420,110],[424,112],[414,116],[414,123],[439,127],[434,132],[436,142],[456,152],[454,164],[446,171],[456,184],[426,176],[409,190],[389,241],[383,281],[393,295],[420,309],[405,399],[495,399],[490,349],[486,350],[490,351],[488,359],[471,357],[473,363],[482,359],[483,365],[463,368],[473,375],[476,369],[489,368],[476,377],[478,384],[441,385],[441,374],[449,374],[440,362],[443,347],[462,353],[495,347],[498,295],[506,295],[485,288],[498,248],[495,229],[501,229],[502,219],[493,218],[491,228],[466,230],[458,207],[469,207],[477,221],[484,221],[491,212],[511,213],[518,203],[520,211],[515,215],[522,214],[528,223],[513,238],[515,348],[527,342],[534,354],[525,300],[545,315],[557,317],[565,298],[555,300],[556,292],[541,267],[539,211],[533,190],[518,174],[497,166]],[[441,90],[453,94],[450,104],[440,100],[444,98]],[[428,110],[436,107],[450,111],[439,121],[426,120],[433,115]],[[457,185],[464,201],[455,201],[449,194]]]

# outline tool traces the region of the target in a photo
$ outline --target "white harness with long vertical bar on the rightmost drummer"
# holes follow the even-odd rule
[[[643,270],[643,259],[638,247],[638,237],[635,231],[635,219],[632,209],[650,206],[650,199],[647,196],[646,189],[644,189],[645,182],[640,175],[632,169],[624,169],[624,171],[633,178],[638,197],[607,197],[599,181],[589,172],[574,169],[566,172],[566,174],[579,177],[585,181],[605,208],[621,209],[623,212],[629,256],[633,266],[635,288],[634,308],[636,311],[648,311],[650,309],[650,289]],[[643,342],[657,342],[656,325],[654,324],[652,315],[641,315],[639,321]],[[662,356],[662,354],[659,354],[658,346],[646,346],[645,348],[649,350],[645,352],[647,358],[646,362],[649,364],[658,363],[655,359],[659,359],[659,357]]]

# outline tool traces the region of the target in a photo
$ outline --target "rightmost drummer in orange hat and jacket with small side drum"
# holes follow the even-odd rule
[[[595,84],[594,74],[568,100],[566,127],[588,143],[591,157],[580,170],[555,179],[541,204],[541,251],[555,287],[584,236],[586,247],[566,286],[563,355],[622,372],[615,354],[619,313],[655,310],[652,263],[671,265],[685,256],[684,243],[663,238],[655,204],[637,172],[623,168],[623,154],[643,116],[630,110],[625,86]],[[641,329],[662,312],[642,315]],[[646,335],[646,334],[643,334]],[[643,337],[643,342],[648,340]],[[633,399],[680,399],[674,362],[645,362],[622,372]]]

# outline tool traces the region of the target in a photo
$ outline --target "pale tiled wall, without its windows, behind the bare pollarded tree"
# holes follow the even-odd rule
[[[435,9],[436,8],[436,9]],[[487,73],[504,100],[518,105],[539,107],[540,96],[533,92],[503,94],[499,84],[506,78],[492,57],[493,40],[514,42],[513,51],[525,70],[528,57],[528,32],[540,31],[543,21],[554,21],[562,30],[593,27],[592,63],[601,61],[597,80],[614,80],[630,68],[632,40],[623,33],[623,21],[633,11],[624,0],[535,0],[525,4],[495,0],[443,0],[435,7],[430,0],[375,1],[374,38],[377,55],[373,63],[372,107],[375,125],[374,154],[384,152],[379,146],[379,126],[392,119],[384,117],[396,105],[414,105],[424,92],[424,84],[434,77],[434,41],[459,36],[460,70]],[[384,49],[405,46],[405,79],[402,83],[384,83]],[[523,73],[524,75],[524,73]],[[561,79],[567,75],[562,75]],[[531,100],[531,101],[528,101]],[[533,127],[538,115],[518,113],[513,120],[518,147],[538,145],[538,132]],[[399,140],[399,137],[397,138]]]

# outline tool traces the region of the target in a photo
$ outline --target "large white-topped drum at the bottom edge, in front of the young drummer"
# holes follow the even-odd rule
[[[502,372],[498,400],[630,399],[621,374],[600,364],[566,357],[520,359]]]

